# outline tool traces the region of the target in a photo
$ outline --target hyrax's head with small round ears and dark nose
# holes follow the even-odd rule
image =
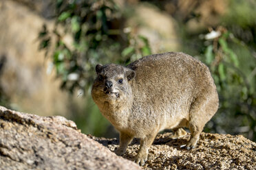
[[[118,101],[131,95],[129,82],[135,77],[135,71],[116,64],[96,65],[97,77],[92,86],[94,100]]]

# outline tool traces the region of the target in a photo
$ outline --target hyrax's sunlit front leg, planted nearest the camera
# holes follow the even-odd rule
[[[135,162],[140,166],[145,165],[147,161],[147,155],[149,154],[149,147],[153,143],[156,134],[148,134],[145,138],[140,139],[140,149],[138,155],[135,158]]]

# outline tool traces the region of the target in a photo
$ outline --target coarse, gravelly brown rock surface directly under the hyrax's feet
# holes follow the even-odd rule
[[[198,147],[188,151],[180,145],[186,144],[189,135],[171,140],[170,134],[158,134],[143,169],[256,169],[256,143],[242,135],[202,133]],[[111,151],[118,147],[116,138],[92,138]],[[138,144],[135,139],[122,157],[134,160]]]

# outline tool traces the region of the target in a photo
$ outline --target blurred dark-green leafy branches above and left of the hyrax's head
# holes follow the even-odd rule
[[[129,27],[122,26],[123,14],[114,1],[56,2],[54,29],[43,25],[39,48],[45,49],[46,56],[52,58],[56,75],[62,80],[61,88],[70,93],[78,89],[78,95],[89,96],[96,64],[127,64],[151,53],[147,38],[136,36]],[[109,123],[91,97],[87,101],[86,112],[76,112],[72,118],[83,132],[103,135]]]

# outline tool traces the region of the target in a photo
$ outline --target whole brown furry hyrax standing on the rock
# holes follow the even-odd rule
[[[129,64],[98,64],[92,98],[100,112],[120,132],[117,154],[140,138],[136,162],[144,165],[156,134],[172,129],[171,138],[191,138],[195,147],[204,125],[218,108],[218,95],[208,67],[185,53],[161,53]]]

